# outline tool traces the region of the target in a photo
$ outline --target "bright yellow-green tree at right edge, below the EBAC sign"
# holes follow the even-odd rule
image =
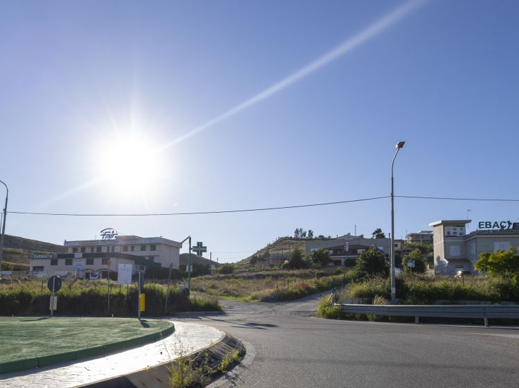
[[[519,255],[514,247],[508,251],[495,251],[493,254],[483,252],[474,263],[474,268],[490,276],[504,276],[519,282]]]

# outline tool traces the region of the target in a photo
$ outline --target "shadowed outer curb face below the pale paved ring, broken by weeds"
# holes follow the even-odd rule
[[[226,355],[232,354],[234,351],[242,353],[244,345],[235,337],[223,333],[219,342],[212,344],[206,348],[200,349],[189,354],[195,360],[201,359],[201,362],[207,362],[208,369],[218,369]],[[203,359],[202,359],[203,357]],[[178,360],[178,359],[176,359]],[[94,382],[93,384],[80,385],[82,388],[150,388],[150,387],[171,387],[170,383],[170,367],[176,362],[171,360],[154,367],[142,369],[125,376],[118,376],[108,380]],[[196,361],[195,361],[196,363]]]

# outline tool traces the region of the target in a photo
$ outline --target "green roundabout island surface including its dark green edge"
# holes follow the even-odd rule
[[[173,331],[158,319],[0,317],[0,373],[116,353]]]

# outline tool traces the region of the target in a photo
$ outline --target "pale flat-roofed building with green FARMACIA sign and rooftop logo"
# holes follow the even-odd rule
[[[53,275],[90,279],[116,273],[119,264],[161,266],[179,269],[181,243],[162,237],[116,236],[102,240],[65,240],[66,254],[30,256],[30,270]]]

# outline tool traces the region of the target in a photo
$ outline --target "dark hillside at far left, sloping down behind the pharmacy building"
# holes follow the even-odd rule
[[[29,269],[29,254],[64,252],[66,252],[66,248],[62,245],[30,240],[30,238],[6,234],[3,240],[3,260],[7,263],[14,264],[15,270],[27,271]]]

